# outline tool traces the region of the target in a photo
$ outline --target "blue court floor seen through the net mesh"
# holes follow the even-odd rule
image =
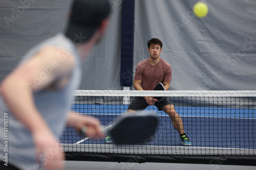
[[[73,109],[80,113],[90,113],[87,115],[97,117],[103,126],[108,127],[120,113],[125,112],[127,106],[75,105]],[[154,140],[147,144],[180,147],[179,135],[172,126],[172,119],[156,109],[154,106],[146,109],[157,112],[159,117]],[[254,109],[179,107],[176,110],[182,117],[185,132],[193,142],[193,147],[256,149],[253,143],[256,141]],[[75,130],[66,129],[60,140],[61,143],[105,144],[104,140],[82,139]]]

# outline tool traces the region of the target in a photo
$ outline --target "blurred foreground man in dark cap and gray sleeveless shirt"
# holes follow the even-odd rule
[[[65,155],[56,143],[66,124],[103,136],[98,119],[69,110],[81,62],[104,35],[110,12],[108,0],[74,0],[65,32],[33,47],[2,81],[0,169],[61,169]]]

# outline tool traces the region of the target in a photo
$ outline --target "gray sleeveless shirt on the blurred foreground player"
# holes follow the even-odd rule
[[[33,94],[37,109],[45,118],[52,132],[58,138],[62,134],[63,128],[65,128],[66,118],[71,108],[74,90],[78,88],[80,83],[81,61],[72,41],[65,37],[65,35],[59,33],[32,48],[21,62],[32,57],[41,47],[49,45],[67,50],[73,54],[76,59],[72,75],[66,87],[56,90],[40,90]],[[62,59],[65,60],[65,56],[61,56],[60,54],[59,57],[63,57]],[[45,68],[45,71],[42,72],[41,75],[37,75],[37,78],[35,77],[35,84],[29,86],[33,87],[36,85],[36,81],[39,82],[40,79],[43,80],[44,76],[50,74],[51,69],[54,69],[57,64],[61,63],[55,63],[52,66],[50,65]],[[6,120],[8,120],[8,122]],[[6,129],[4,127],[6,127]],[[4,134],[6,130],[8,131]],[[10,163],[20,169],[34,170],[38,167],[38,165],[35,164],[35,149],[31,133],[12,115],[0,95],[0,162],[3,163],[3,160],[8,160],[8,164]]]

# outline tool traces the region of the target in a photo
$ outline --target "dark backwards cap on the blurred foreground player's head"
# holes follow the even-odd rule
[[[74,0],[65,35],[74,43],[88,41],[110,12],[108,0]]]

